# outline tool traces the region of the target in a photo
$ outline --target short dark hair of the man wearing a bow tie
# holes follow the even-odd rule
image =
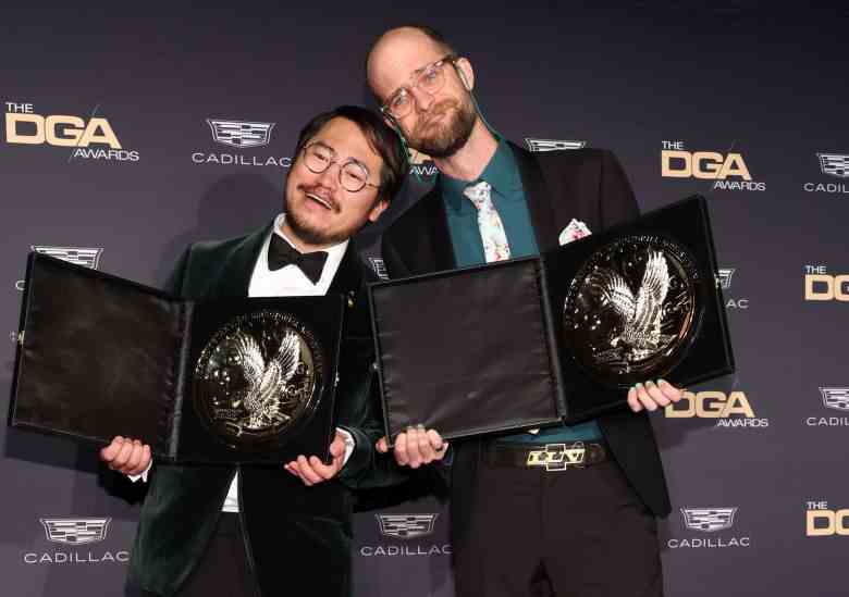
[[[380,169],[380,188],[378,196],[390,202],[404,185],[409,165],[401,137],[381,116],[360,105],[340,105],[315,116],[300,129],[295,145],[294,160],[300,156],[304,146],[315,137],[321,128],[333,119],[345,119],[356,124],[371,148],[383,160]]]

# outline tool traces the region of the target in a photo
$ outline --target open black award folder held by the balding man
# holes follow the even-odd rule
[[[705,200],[522,258],[374,284],[387,437],[575,424],[734,371]]]

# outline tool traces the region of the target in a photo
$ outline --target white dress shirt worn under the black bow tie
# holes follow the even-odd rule
[[[286,238],[286,235],[281,231],[281,225],[285,221],[285,214],[281,213],[274,219],[274,227],[271,234],[276,234],[283,240],[293,245],[293,242]],[[321,277],[317,284],[312,284],[310,279],[300,271],[297,265],[286,265],[274,272],[268,269],[268,248],[271,244],[271,234],[268,235],[266,241],[262,244],[262,248],[257,256],[257,262],[254,265],[254,273],[250,276],[250,284],[248,286],[249,297],[316,297],[324,296],[330,288],[330,284],[333,282],[333,277],[336,275],[339,264],[342,262],[342,258],[345,254],[345,250],[348,248],[348,240],[333,245],[332,247],[324,249],[328,252],[328,259],[324,262],[324,269],[321,271]],[[294,245],[293,245],[294,246]],[[345,430],[339,430],[342,435],[345,436],[345,457],[344,462],[348,461],[352,452],[354,451],[354,438]],[[140,475],[130,475],[130,478],[137,481],[142,478],[147,481],[147,473],[150,471],[150,467]],[[291,474],[283,469],[283,463],[280,468],[281,474]],[[233,482],[230,484],[230,490],[224,499],[224,503],[221,508],[224,512],[238,512],[238,473],[233,477]]]

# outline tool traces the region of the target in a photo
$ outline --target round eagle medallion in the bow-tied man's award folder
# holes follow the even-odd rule
[[[195,409],[232,448],[259,450],[305,423],[321,394],[322,351],[288,313],[258,311],[220,328],[195,368]]]

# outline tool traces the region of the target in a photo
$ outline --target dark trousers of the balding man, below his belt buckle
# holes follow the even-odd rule
[[[452,489],[470,493],[452,510],[457,597],[662,597],[656,521],[615,462],[550,472],[471,451],[457,457],[480,459],[475,478]]]

